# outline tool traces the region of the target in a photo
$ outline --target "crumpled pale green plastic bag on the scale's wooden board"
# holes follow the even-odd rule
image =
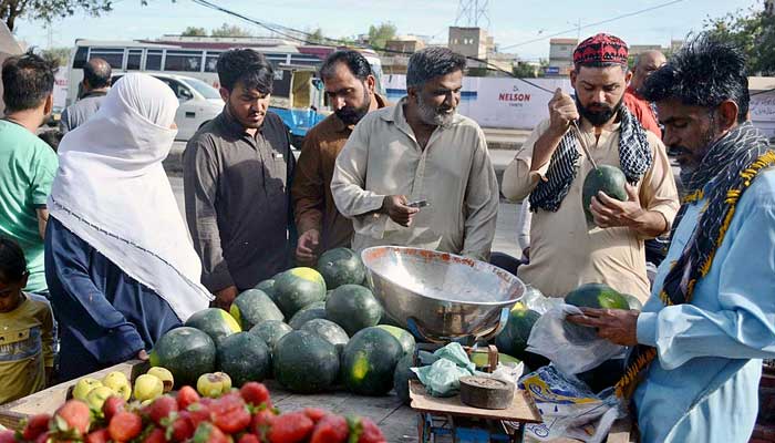
[[[412,368],[420,382],[433,396],[452,396],[461,389],[461,377],[477,373],[476,365],[468,359],[461,343],[450,343],[433,353],[436,358],[431,365]],[[424,360],[431,360],[424,356]]]

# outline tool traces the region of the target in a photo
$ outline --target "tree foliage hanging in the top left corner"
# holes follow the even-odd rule
[[[141,3],[145,4],[146,0]],[[20,17],[51,22],[76,11],[100,16],[112,10],[113,0],[0,0],[0,19],[11,31]]]

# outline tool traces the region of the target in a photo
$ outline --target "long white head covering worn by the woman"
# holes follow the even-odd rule
[[[124,75],[100,111],[62,138],[49,210],[185,321],[211,296],[162,166],[177,106],[162,81]]]

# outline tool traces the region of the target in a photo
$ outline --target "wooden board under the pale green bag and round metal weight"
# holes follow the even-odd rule
[[[476,416],[482,419],[507,420],[520,423],[540,423],[541,418],[533,406],[523,390],[514,393],[512,405],[503,410],[488,410],[472,408],[461,403],[459,395],[436,398],[431,396],[425,388],[416,380],[410,381],[410,396],[412,398],[412,409],[422,412]]]

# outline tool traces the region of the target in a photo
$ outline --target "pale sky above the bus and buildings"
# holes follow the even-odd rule
[[[434,42],[446,42],[447,27],[455,25],[458,1],[455,0],[211,0],[223,8],[254,19],[286,27],[322,29],[331,38],[365,33],[369,25],[391,22],[399,34],[432,37]],[[673,0],[675,1],[675,0]],[[595,24],[640,10],[654,8],[670,0],[639,1],[574,1],[574,0],[479,0],[488,3],[489,20],[479,25],[495,37],[502,52],[517,53],[524,60],[548,59],[548,35],[576,38],[580,20],[580,35],[609,32],[628,44],[661,44],[669,47],[671,39],[683,39],[690,32],[702,30],[705,19],[722,17],[752,6],[762,7],[763,0],[678,0],[678,2]],[[198,6],[190,0],[118,0],[114,10],[94,18],[84,13],[56,20],[51,30],[45,23],[18,20],[18,39],[40,48],[73,47],[75,39],[132,40],[154,39],[163,34],[179,34],[186,27],[207,30],[221,23],[237,24],[264,31],[252,24]],[[459,25],[467,23],[458,22]],[[566,32],[562,32],[566,31]],[[521,44],[541,39],[537,42]],[[509,48],[510,47],[510,48]]]

